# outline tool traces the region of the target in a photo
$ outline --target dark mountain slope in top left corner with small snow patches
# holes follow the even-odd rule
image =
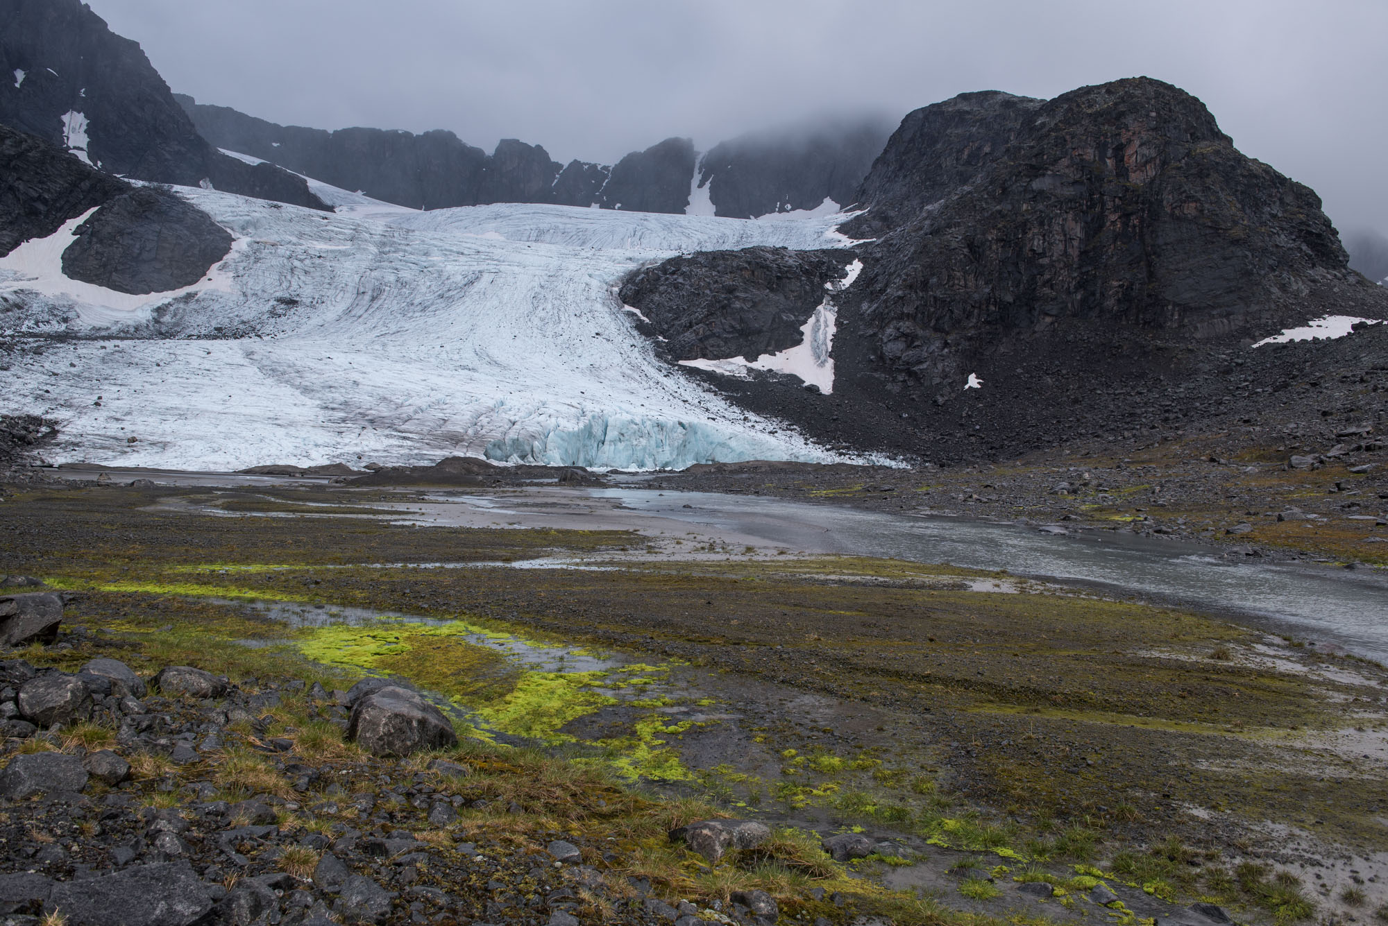
[[[140,46],[79,0],[0,0],[0,123],[108,173],[326,208],[301,177],[208,146]]]

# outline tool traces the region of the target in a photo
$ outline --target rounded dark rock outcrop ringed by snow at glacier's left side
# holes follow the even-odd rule
[[[119,292],[192,286],[232,250],[232,236],[168,190],[140,187],[92,213],[62,252],[62,273]]]

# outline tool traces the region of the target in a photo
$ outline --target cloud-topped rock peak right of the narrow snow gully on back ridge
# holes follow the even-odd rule
[[[826,198],[847,207],[891,134],[883,119],[751,132],[700,159],[715,215],[750,219],[813,209]]]

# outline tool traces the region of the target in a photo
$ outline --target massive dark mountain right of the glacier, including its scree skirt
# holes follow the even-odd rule
[[[1348,268],[1316,194],[1159,80],[926,107],[858,200],[869,212],[841,230],[880,237],[858,245],[865,269],[836,297],[833,396],[706,374],[856,448],[997,457],[1174,430],[1234,396],[1252,413],[1281,399],[1276,370],[1245,391],[1251,344],[1323,315],[1388,317],[1388,291]],[[744,304],[773,305],[775,286],[748,292],[759,262],[719,258]],[[666,269],[647,272],[666,281],[659,301],[704,298],[709,281]]]

